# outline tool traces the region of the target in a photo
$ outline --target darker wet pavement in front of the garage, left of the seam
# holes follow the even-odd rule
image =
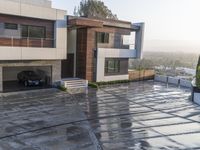
[[[56,89],[0,95],[0,150],[96,150],[72,96]]]

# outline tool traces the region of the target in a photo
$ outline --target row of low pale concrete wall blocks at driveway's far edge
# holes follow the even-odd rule
[[[155,75],[154,81],[163,82],[167,84],[173,84],[176,86],[191,88],[191,81],[180,79],[177,77],[168,77],[168,76],[162,76],[162,75]]]

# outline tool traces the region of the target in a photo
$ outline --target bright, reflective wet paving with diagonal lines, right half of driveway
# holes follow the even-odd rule
[[[74,97],[105,150],[200,149],[200,107],[189,89],[147,81]]]

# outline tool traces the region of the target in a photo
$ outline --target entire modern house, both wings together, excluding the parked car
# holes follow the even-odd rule
[[[50,86],[128,79],[143,32],[143,23],[67,16],[49,0],[0,0],[0,91],[17,87],[27,70]]]

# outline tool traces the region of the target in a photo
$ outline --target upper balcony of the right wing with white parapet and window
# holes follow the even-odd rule
[[[100,58],[136,58],[135,35],[97,33],[97,49]]]

